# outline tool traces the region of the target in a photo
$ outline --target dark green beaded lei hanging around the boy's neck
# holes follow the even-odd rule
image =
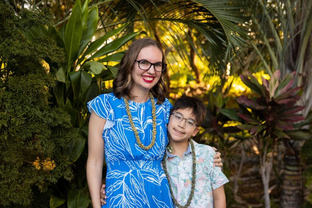
[[[191,204],[191,201],[192,201],[192,198],[193,198],[193,195],[194,195],[194,191],[195,191],[195,182],[196,182],[196,155],[195,155],[195,148],[194,148],[194,143],[191,139],[188,139],[188,142],[191,144],[191,149],[192,149],[192,186],[191,186],[191,193],[190,193],[190,196],[188,197],[188,201],[186,202],[185,205],[180,205],[178,203],[178,201],[174,198],[174,195],[173,195],[173,191],[172,191],[172,187],[171,187],[171,184],[170,184],[170,178],[169,178],[169,175],[168,175],[168,172],[167,172],[167,165],[166,165],[166,152],[165,152],[165,155],[163,156],[163,171],[165,172],[166,174],[166,177],[168,179],[168,183],[169,183],[169,188],[170,188],[170,194],[171,194],[171,197],[172,197],[172,201],[173,203],[178,207],[178,208],[186,208],[188,207],[190,204]]]

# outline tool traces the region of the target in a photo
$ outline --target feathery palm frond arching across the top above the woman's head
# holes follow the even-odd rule
[[[209,61],[211,74],[220,75],[225,71],[228,60],[232,59],[233,49],[245,45],[246,31],[238,26],[243,22],[241,8],[240,1],[234,4],[230,0],[119,0],[102,4],[99,11],[105,22],[102,29],[133,22],[136,27],[143,24],[152,37],[157,35],[155,31],[163,36],[171,30],[167,39],[160,40],[164,46],[169,41],[184,61],[189,60],[188,49],[192,47],[200,58],[205,57]],[[184,29],[191,31],[195,38],[191,39]],[[175,40],[178,38],[180,40]]]

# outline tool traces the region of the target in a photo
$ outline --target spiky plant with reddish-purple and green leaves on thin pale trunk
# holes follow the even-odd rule
[[[271,80],[262,77],[262,84],[251,73],[246,74],[240,75],[241,80],[257,97],[249,99],[242,95],[237,99],[242,110],[237,115],[245,121],[245,124],[237,127],[248,130],[253,144],[259,150],[265,207],[270,207],[269,182],[277,142],[308,139],[311,138],[311,132],[299,129],[299,125],[295,124],[304,120],[298,112],[305,106],[296,105],[301,87],[292,88],[294,73],[286,74],[280,81],[280,71],[277,70]]]

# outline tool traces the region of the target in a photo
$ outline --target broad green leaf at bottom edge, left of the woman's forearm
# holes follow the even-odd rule
[[[70,189],[67,196],[68,208],[87,208],[90,199],[84,194],[82,189]]]

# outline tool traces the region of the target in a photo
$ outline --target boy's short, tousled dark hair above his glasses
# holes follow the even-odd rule
[[[202,102],[202,99],[196,97],[190,97],[186,94],[183,94],[180,98],[177,99],[173,108],[170,110],[172,112],[177,111],[178,109],[192,109],[192,114],[195,116],[197,127],[199,127],[206,116],[206,107]]]

